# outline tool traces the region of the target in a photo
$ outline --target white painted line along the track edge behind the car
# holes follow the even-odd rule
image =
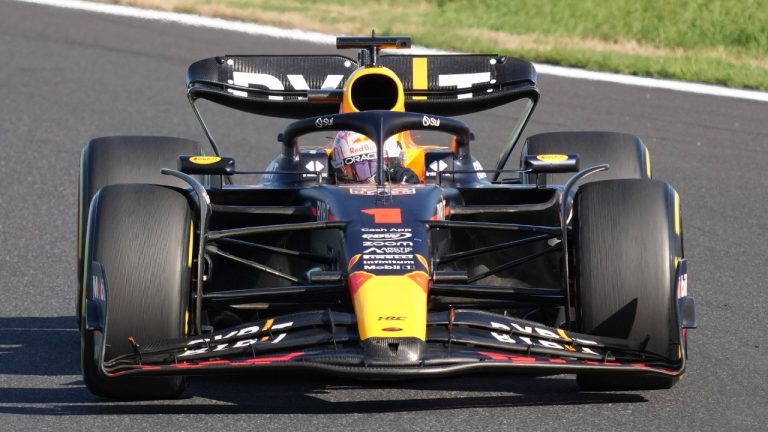
[[[206,27],[220,30],[234,31],[258,36],[268,36],[280,39],[309,42],[321,45],[334,45],[336,36],[319,32],[304,30],[281,29],[268,25],[255,24],[243,21],[231,21],[221,18],[210,18],[199,15],[182,14],[176,12],[156,11],[140,9],[131,6],[121,6],[105,3],[91,3],[82,0],[15,0],[23,3],[35,3],[40,5],[55,6],[66,9],[77,9],[88,12],[97,12],[108,15],[140,18],[151,21],[165,21],[177,24]],[[447,51],[415,46],[412,50],[421,54],[447,54]],[[747,99],[768,102],[768,92],[741,90],[728,87],[699,84],[694,82],[664,80],[656,78],[644,78],[632,75],[621,75],[607,72],[594,72],[584,69],[553,66],[535,63],[536,71],[543,75],[554,75],[564,78],[603,81],[631,86],[649,87],[657,89],[675,90],[687,93],[697,93],[712,96],[724,96],[738,99]]]

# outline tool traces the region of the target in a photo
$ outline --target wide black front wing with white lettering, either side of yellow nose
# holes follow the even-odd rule
[[[333,311],[285,315],[170,341],[131,339],[131,344],[133,353],[114,359],[103,359],[103,346],[97,349],[101,373],[116,377],[298,369],[391,379],[489,369],[673,376],[685,369],[684,357],[672,363],[645,353],[642,344],[632,341],[582,335],[474,310],[430,313],[425,349],[417,363],[408,365],[370,362],[361,348],[354,314]]]

